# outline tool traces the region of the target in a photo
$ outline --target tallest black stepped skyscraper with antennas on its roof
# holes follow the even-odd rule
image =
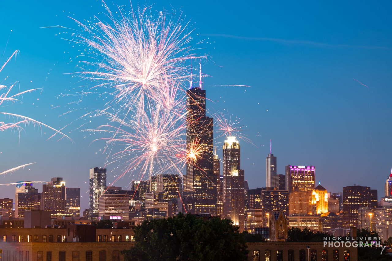
[[[198,87],[187,90],[187,162],[183,201],[192,214],[216,215],[216,177],[213,165],[213,119],[206,116],[200,66]]]

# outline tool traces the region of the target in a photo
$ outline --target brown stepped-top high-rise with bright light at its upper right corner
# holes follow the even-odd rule
[[[63,178],[51,178],[42,185],[41,210],[50,210],[52,217],[65,215],[65,182]]]

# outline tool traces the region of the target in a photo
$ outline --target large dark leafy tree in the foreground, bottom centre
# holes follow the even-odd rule
[[[125,261],[246,260],[247,245],[232,221],[178,214],[143,221],[135,231],[135,245],[123,250]]]

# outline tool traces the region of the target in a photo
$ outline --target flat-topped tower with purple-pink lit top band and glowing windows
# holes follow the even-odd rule
[[[316,168],[314,166],[286,166],[286,190],[307,191],[314,189]]]

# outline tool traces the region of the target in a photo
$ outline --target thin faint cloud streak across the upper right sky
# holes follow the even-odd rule
[[[319,47],[355,47],[355,48],[364,48],[364,49],[384,49],[391,50],[390,47],[383,46],[366,46],[366,45],[348,45],[348,44],[325,44],[320,42],[312,42],[312,41],[303,41],[303,40],[286,40],[279,38],[270,38],[270,37],[252,37],[252,36],[238,36],[232,34],[200,34],[201,36],[212,36],[212,37],[223,37],[223,38],[232,38],[232,39],[240,39],[240,40],[251,40],[251,41],[269,41],[276,42],[281,44],[303,44],[303,45],[314,45]]]

